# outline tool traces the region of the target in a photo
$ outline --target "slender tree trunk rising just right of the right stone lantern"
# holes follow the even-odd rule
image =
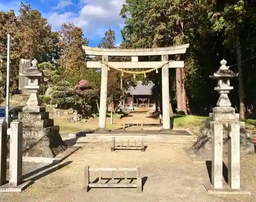
[[[244,98],[244,82],[243,82],[243,72],[242,72],[242,59],[241,59],[241,45],[240,38],[237,35],[236,38],[236,46],[237,46],[237,62],[238,62],[238,92],[239,92],[239,100],[240,100],[240,108],[239,108],[239,118],[240,120],[245,119],[245,98]]]

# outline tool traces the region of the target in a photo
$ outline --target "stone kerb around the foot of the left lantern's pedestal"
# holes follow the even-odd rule
[[[78,150],[79,146],[72,146],[69,147],[67,150],[63,151],[62,153],[59,153],[54,158],[46,158],[46,157],[30,157],[30,156],[24,156],[23,162],[33,162],[33,163],[60,163],[64,159],[66,159],[68,156],[70,156],[72,153],[74,153],[76,150]],[[7,159],[9,162],[9,159]]]

